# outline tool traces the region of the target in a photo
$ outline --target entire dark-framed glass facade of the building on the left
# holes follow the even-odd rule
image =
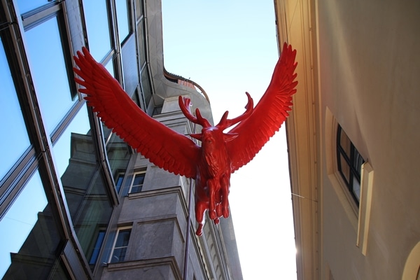
[[[138,2],[0,3],[0,279],[92,279],[123,257],[130,230],[110,221],[134,152],[85,105],[72,55],[87,43],[144,108]]]

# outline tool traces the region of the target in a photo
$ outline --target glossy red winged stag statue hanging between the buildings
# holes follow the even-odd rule
[[[190,99],[179,97],[183,114],[202,126],[200,134],[191,134],[201,141],[197,146],[183,134],[162,125],[141,111],[102,64],[97,63],[86,48],[78,52],[73,70],[76,82],[85,88],[81,93],[107,127],[154,165],[195,179],[195,218],[197,235],[202,235],[204,213],[208,210],[214,223],[229,216],[230,174],[246,165],[286,120],[292,95],[296,92],[296,50],[284,43],[272,80],[260,102],[253,108],[253,99],[246,92],[248,104],[241,116],[228,119],[228,111],[220,123],[212,126],[196,109],[190,112]],[[233,127],[228,133],[223,130]]]

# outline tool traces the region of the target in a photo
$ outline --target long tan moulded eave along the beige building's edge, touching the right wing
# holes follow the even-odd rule
[[[297,279],[319,279],[321,258],[321,207],[316,90],[316,35],[314,1],[277,1],[276,29],[279,48],[287,42],[297,50],[297,93],[286,121],[290,188],[296,242]]]

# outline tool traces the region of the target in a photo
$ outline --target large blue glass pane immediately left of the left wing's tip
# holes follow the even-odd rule
[[[36,96],[51,134],[73,105],[57,18],[29,29],[25,35]]]

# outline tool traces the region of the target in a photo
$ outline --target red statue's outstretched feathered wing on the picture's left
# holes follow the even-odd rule
[[[153,164],[174,174],[195,178],[200,147],[183,134],[166,127],[141,111],[118,81],[97,63],[86,48],[74,60],[74,72],[83,80],[87,105],[93,107],[107,127]]]

